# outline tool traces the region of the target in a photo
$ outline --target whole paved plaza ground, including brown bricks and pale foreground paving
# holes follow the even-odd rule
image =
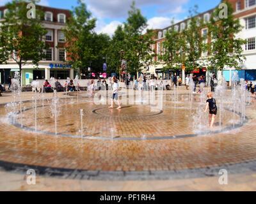
[[[5,105],[13,100],[12,94],[3,94],[0,189],[255,190],[255,99],[246,107],[243,125],[230,124],[230,117],[239,120],[240,116],[226,110],[221,131],[216,119],[214,129],[198,134],[193,131],[191,115],[195,115],[196,108],[191,108],[189,92],[182,88],[178,93],[173,102],[173,91],[163,92],[161,110],[152,110],[136,97],[134,105],[109,110],[108,104],[93,103],[86,92],[79,93],[78,98],[76,93],[58,93],[61,114],[57,135],[50,111],[52,93],[45,94],[44,102],[37,101],[36,126],[31,101],[35,93],[22,93],[24,111],[15,121],[6,118]],[[200,94],[195,94],[193,104],[199,103]],[[35,186],[26,184],[28,169],[36,170]],[[227,186],[218,183],[221,169],[228,171]]]

